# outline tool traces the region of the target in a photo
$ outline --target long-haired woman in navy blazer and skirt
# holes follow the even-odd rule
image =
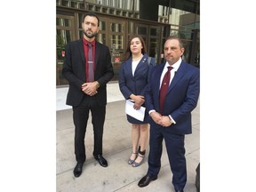
[[[125,100],[134,101],[133,108],[145,107],[145,89],[148,84],[149,73],[156,60],[152,58],[148,63],[146,45],[141,36],[131,36],[126,52],[127,60],[124,61],[119,73],[119,88]],[[148,112],[143,121],[127,115],[127,120],[132,124],[132,155],[128,164],[133,167],[140,166],[148,145]],[[140,141],[140,144],[139,144]]]

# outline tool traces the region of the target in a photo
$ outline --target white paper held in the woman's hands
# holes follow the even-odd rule
[[[132,100],[126,100],[125,113],[129,116],[132,116],[133,118],[143,121],[146,108],[141,106],[139,110],[136,110],[133,108],[133,105],[134,105],[134,102],[132,102]]]

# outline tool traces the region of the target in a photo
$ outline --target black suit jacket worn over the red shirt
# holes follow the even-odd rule
[[[100,106],[104,106],[107,104],[106,84],[114,76],[114,71],[108,46],[99,42],[95,43],[95,64],[94,79],[99,82],[100,88],[92,98],[97,100]],[[69,83],[66,104],[76,107],[81,103],[85,95],[81,89],[82,84],[85,83],[86,76],[82,39],[67,44],[62,75]]]

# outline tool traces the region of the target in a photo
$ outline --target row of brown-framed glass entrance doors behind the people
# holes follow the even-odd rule
[[[164,38],[170,32],[170,25],[141,20],[124,20],[118,17],[98,14],[100,31],[96,36],[97,41],[106,44],[111,54],[114,68],[112,81],[118,81],[119,69],[125,60],[125,51],[129,37],[138,34],[143,37],[148,55],[155,57],[157,63],[161,61]],[[61,76],[65,46],[71,41],[83,37],[82,22],[84,13],[67,12],[57,14],[57,46],[56,46],[56,85],[67,85],[68,81]]]

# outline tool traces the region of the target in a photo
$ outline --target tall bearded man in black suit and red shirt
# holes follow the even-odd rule
[[[85,14],[82,23],[84,37],[67,44],[65,51],[62,75],[69,83],[67,105],[73,108],[77,162],[75,177],[83,172],[86,160],[84,136],[90,110],[94,133],[92,155],[101,166],[108,166],[102,156],[102,138],[107,105],[106,84],[114,76],[114,71],[108,47],[95,40],[99,26],[100,20],[96,14]]]

